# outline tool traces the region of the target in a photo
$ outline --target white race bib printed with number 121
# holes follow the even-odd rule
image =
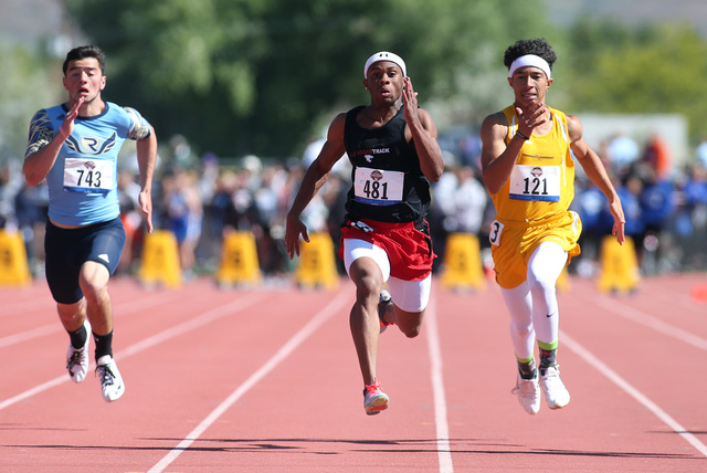
[[[509,196],[515,200],[560,200],[560,167],[516,165],[510,171]]]

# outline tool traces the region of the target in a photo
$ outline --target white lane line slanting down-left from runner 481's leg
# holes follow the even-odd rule
[[[297,332],[273,357],[265,362],[257,371],[251,375],[241,386],[239,386],[228,398],[221,402],[199,425],[184,437],[167,455],[155,464],[148,473],[158,473],[165,471],[181,453],[213,424],[226,410],[229,410],[243,395],[245,395],[253,386],[268,375],[284,359],[286,359],[304,340],[314,334],[325,322],[333,315],[340,312],[344,304],[348,301],[347,291],[339,291],[339,294],[321,311],[319,311],[299,332]]]

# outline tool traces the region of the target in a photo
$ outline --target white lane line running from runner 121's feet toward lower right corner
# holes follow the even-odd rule
[[[639,401],[643,407],[653,412],[658,419],[665,422],[675,433],[678,433],[690,445],[693,445],[699,453],[707,456],[707,446],[700,442],[695,435],[689,433],[679,422],[673,419],[667,412],[661,409],[655,402],[648,399],[645,395],[631,386],[625,379],[623,379],[616,371],[609,368],[604,362],[600,361],[594,355],[592,355],[587,348],[577,343],[567,333],[560,330],[560,338],[562,339],[562,346],[571,349],[580,357],[582,357],[589,365],[597,368],[599,372],[609,378],[614,385],[623,389],[629,396]]]

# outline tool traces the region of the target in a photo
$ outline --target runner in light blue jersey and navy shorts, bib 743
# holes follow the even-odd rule
[[[137,143],[139,201],[152,231],[155,129],[133,108],[104,102],[105,54],[81,46],[66,54],[64,88],[68,101],[39,111],[30,124],[24,178],[46,179],[50,203],[44,250],[46,281],[71,343],[66,368],[74,382],[88,371],[89,333],[96,374],[106,401],[125,392],[113,359],[113,306],[108,280],[120,260],[125,229],[117,195],[117,158],[125,139]]]

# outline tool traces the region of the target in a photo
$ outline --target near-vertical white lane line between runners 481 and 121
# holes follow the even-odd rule
[[[446,414],[446,395],[442,376],[442,350],[440,349],[440,332],[437,330],[437,314],[434,299],[430,301],[425,311],[428,328],[428,346],[430,347],[432,392],[434,396],[434,424],[437,435],[437,461],[440,473],[452,473],[452,451],[450,449],[450,428]]]

